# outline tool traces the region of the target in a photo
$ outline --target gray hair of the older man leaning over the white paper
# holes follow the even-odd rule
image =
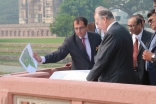
[[[106,17],[107,19],[114,19],[113,13],[108,9],[103,9],[98,12],[98,15],[102,17]]]

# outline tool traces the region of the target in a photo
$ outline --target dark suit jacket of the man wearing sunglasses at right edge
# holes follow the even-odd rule
[[[151,41],[149,43],[149,47],[150,47],[150,44],[151,44],[151,42],[152,42],[152,40],[154,38],[154,34],[152,35]],[[151,51],[153,53],[156,53],[156,44],[155,44],[155,46],[153,47],[153,49]],[[148,70],[149,70],[150,84],[151,85],[156,85],[156,61],[155,60],[154,60],[153,63],[149,62]]]

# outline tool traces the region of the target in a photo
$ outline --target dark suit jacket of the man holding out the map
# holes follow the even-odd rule
[[[96,33],[88,32],[88,38],[91,47],[91,61],[81,42],[81,39],[76,34],[73,34],[65,39],[64,43],[58,48],[57,51],[45,56],[45,63],[58,62],[70,54],[72,58],[71,69],[91,69],[94,65],[93,57],[96,54],[96,48],[101,43],[101,37]]]

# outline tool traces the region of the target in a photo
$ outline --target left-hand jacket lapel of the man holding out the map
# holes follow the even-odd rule
[[[81,42],[81,39],[80,39],[76,34],[75,34],[75,40],[76,40],[76,46],[79,48],[79,49],[78,49],[79,53],[80,53],[83,57],[85,57],[85,59],[86,59],[87,61],[90,62],[90,60],[87,58],[88,54],[87,54],[87,52],[86,52],[86,49],[84,48],[84,46],[83,46],[83,44],[82,44],[82,42]]]

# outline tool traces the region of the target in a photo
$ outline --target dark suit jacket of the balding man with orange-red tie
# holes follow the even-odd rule
[[[146,30],[143,30],[141,40],[148,47],[148,44],[151,40],[152,33]],[[137,63],[138,63],[138,74],[139,74],[139,83],[140,84],[149,84],[149,76],[148,72],[145,69],[145,60],[142,58],[142,54],[144,52],[144,48],[142,45],[139,45]]]

